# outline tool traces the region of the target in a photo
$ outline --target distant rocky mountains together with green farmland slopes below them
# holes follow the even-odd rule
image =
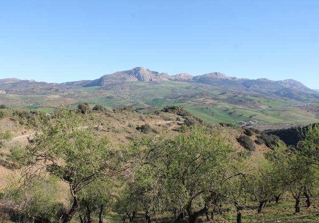
[[[319,122],[319,93],[296,80],[251,80],[216,72],[169,75],[137,67],[95,80],[60,84],[8,78],[0,80],[0,93],[0,104],[47,113],[85,101],[145,113],[178,105],[212,124]]]

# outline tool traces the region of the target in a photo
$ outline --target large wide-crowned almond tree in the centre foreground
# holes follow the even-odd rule
[[[185,210],[189,223],[208,212],[225,193],[223,185],[240,174],[232,146],[204,128],[194,128],[173,140],[144,139],[135,146],[141,164],[155,177],[152,198]]]

